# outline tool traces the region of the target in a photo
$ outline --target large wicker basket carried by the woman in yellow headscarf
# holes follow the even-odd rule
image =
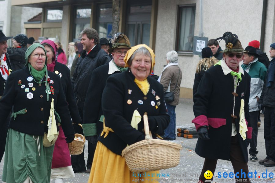
[[[182,145],[150,138],[148,117],[143,116],[145,140],[136,142],[122,151],[126,164],[132,172],[155,171],[176,167],[180,160]]]

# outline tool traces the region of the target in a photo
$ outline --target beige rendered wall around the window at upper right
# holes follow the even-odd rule
[[[154,72],[160,75],[168,51],[175,49],[178,5],[196,4],[195,32],[200,33],[200,0],[159,0],[156,32],[156,65]],[[226,31],[237,34],[243,47],[251,40],[259,40],[262,23],[262,0],[207,0],[203,1],[203,32],[209,39],[221,37]],[[268,1],[264,52],[269,55],[269,45],[275,38],[275,1]],[[225,42],[220,42],[225,48]],[[179,56],[182,70],[181,97],[192,97],[193,81],[199,56]],[[183,96],[183,93],[185,96]]]

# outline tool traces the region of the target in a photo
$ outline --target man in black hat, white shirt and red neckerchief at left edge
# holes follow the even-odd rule
[[[9,54],[7,53],[7,48],[8,48],[7,40],[10,38],[12,37],[6,37],[5,34],[3,34],[2,31],[0,31],[0,60],[1,60],[0,99],[2,98],[2,95],[4,93],[4,88],[5,88],[7,78],[12,70],[12,67],[9,61]],[[10,120],[10,117],[8,116],[7,119],[5,120],[5,124],[3,128],[0,130],[0,162],[5,152],[9,120]]]

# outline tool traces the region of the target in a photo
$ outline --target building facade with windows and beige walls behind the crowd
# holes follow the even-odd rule
[[[40,20],[24,24],[28,36],[54,38],[63,45],[77,41],[86,27],[95,28],[100,38],[112,36],[110,0],[11,0],[11,5],[42,8]],[[239,36],[244,48],[248,42],[259,40],[269,56],[269,46],[275,41],[274,8],[273,0],[120,0],[119,31],[128,36],[132,46],[146,44],[153,48],[156,75],[166,64],[166,53],[177,51],[183,73],[180,96],[192,98],[200,60],[193,53],[193,37],[203,32],[204,37],[212,39],[231,31]],[[224,48],[225,42],[220,46]]]

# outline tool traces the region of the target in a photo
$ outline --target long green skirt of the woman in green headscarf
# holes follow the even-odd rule
[[[35,183],[50,182],[54,145],[44,147],[43,138],[9,128],[2,181],[22,183],[29,176]]]

